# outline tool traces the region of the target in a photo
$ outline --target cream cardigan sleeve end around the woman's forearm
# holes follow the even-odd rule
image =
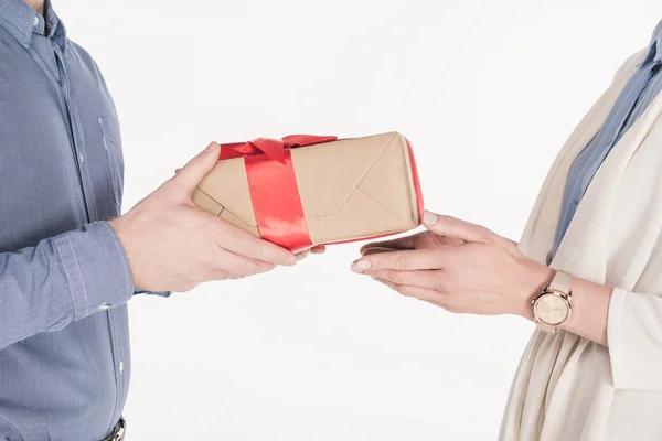
[[[662,298],[616,288],[607,341],[615,388],[662,390]]]

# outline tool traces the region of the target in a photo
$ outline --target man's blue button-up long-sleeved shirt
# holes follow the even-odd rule
[[[131,364],[119,126],[89,54],[0,1],[0,440],[100,440]],[[49,36],[44,36],[44,31]]]

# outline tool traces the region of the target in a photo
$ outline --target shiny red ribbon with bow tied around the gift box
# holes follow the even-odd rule
[[[290,135],[221,144],[218,160],[244,158],[248,189],[263,239],[293,252],[312,241],[301,205],[290,149],[335,141],[333,136]]]

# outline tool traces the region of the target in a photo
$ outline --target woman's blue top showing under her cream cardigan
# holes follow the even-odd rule
[[[658,51],[659,49],[660,51]],[[598,168],[613,146],[645,111],[662,88],[661,64],[662,21],[653,32],[648,56],[621,92],[605,125],[573,162],[563,195],[560,217],[551,258],[558,250],[579,202],[581,202]]]

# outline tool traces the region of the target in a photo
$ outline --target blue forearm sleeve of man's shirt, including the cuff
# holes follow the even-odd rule
[[[107,222],[0,254],[0,349],[126,303],[134,293],[124,247]]]

